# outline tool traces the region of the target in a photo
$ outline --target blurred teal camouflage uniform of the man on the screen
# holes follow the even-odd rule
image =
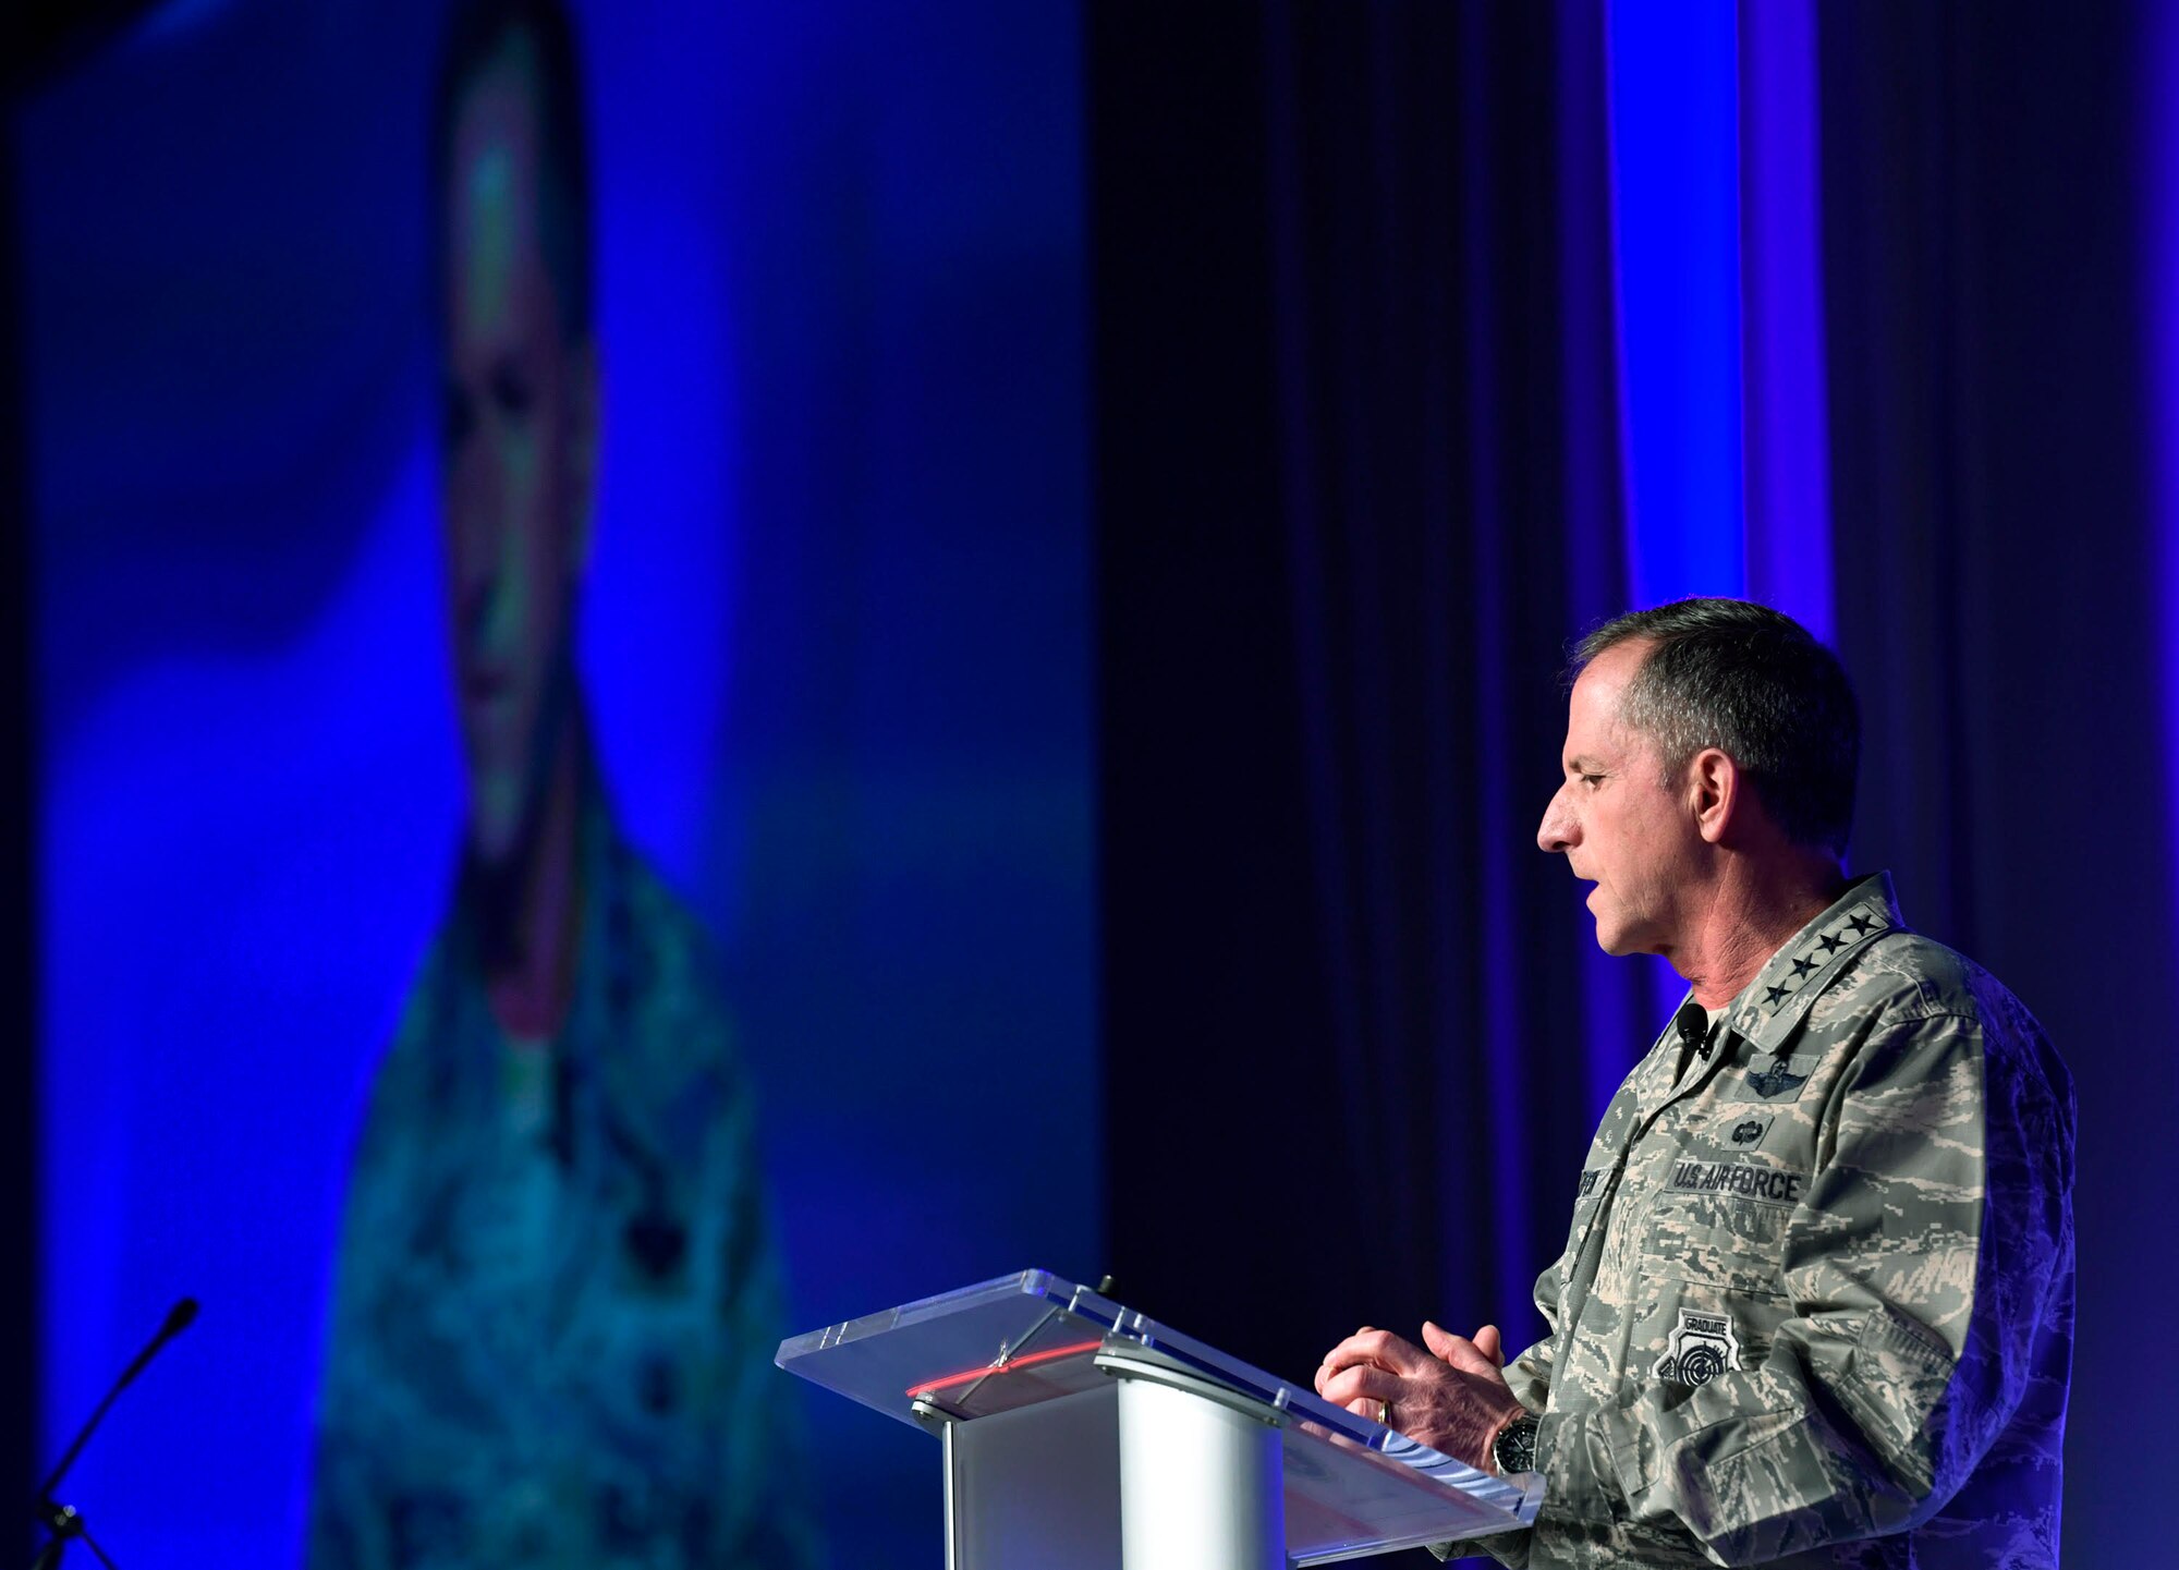
[[[754,1112],[689,914],[582,824],[575,992],[512,1051],[466,890],[349,1175],[314,1570],[815,1561]]]

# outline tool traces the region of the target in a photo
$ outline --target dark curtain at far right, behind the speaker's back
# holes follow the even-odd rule
[[[2146,7],[1824,4],[1839,645],[1861,866],[2044,1020],[2081,1101],[2066,1559],[2159,1563],[2172,691],[2148,410]],[[2162,436],[2168,440],[2168,436]],[[2168,611],[2164,613],[2168,615]],[[2157,1348],[2148,1354],[2148,1348]]]

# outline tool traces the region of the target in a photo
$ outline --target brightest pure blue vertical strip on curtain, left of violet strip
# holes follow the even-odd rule
[[[1628,591],[1745,593],[1732,0],[1615,0],[1606,94]]]

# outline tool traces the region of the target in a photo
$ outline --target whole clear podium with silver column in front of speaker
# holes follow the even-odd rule
[[[1048,1271],[778,1365],[939,1435],[948,1570],[1283,1570],[1512,1531],[1543,1498]]]

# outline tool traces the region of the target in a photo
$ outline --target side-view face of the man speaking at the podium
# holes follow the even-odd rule
[[[1619,720],[1619,700],[1650,645],[1615,643],[1573,683],[1565,781],[1543,809],[1536,844],[1560,850],[1595,883],[1588,911],[1604,953],[1669,953],[1684,933],[1682,901],[1702,840],[1691,798],[1665,785],[1656,744]]]

